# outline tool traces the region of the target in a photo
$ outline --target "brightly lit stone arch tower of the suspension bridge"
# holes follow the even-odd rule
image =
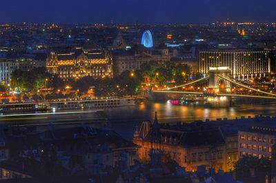
[[[231,85],[228,80],[220,78],[220,76],[229,77],[229,67],[210,67],[209,69],[209,91],[215,93],[227,93],[231,91]]]

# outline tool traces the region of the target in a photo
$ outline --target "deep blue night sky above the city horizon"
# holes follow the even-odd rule
[[[275,22],[275,7],[275,0],[1,0],[0,22]]]

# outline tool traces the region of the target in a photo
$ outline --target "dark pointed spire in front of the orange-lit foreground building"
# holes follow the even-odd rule
[[[155,111],[155,121],[150,133],[150,164],[161,163],[161,132]]]

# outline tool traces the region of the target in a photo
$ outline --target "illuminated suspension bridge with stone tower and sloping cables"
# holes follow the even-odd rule
[[[197,87],[199,85],[201,85],[201,87]],[[230,78],[229,67],[210,67],[209,76],[184,85],[153,90],[152,92],[163,94],[276,99],[276,94],[273,94],[272,92],[265,92],[262,89],[251,87],[239,80]]]

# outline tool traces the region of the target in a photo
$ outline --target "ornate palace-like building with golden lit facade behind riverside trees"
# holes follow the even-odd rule
[[[50,52],[46,60],[46,67],[51,74],[60,78],[95,78],[112,77],[112,65],[107,52],[97,50],[75,50],[75,52]]]

